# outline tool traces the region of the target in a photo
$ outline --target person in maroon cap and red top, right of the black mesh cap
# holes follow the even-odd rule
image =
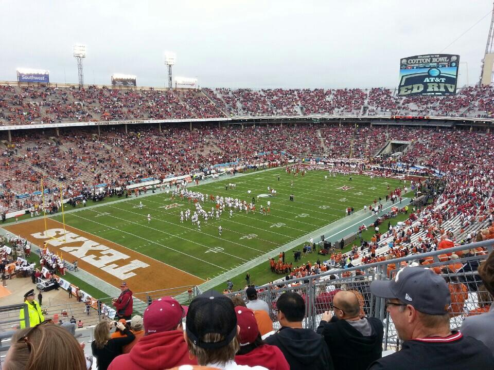
[[[262,341],[254,312],[247,307],[236,306],[235,315],[240,327],[240,349],[235,356],[235,362],[239,365],[261,365],[269,370],[290,370],[279,348]]]

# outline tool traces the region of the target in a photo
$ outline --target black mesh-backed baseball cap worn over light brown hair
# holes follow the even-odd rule
[[[189,305],[185,331],[198,347],[215,349],[227,346],[237,335],[237,316],[232,300],[212,289],[198,295]],[[202,338],[209,333],[219,334],[224,339],[204,342]]]

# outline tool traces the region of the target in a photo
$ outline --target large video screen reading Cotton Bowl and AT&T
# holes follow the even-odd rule
[[[414,55],[400,60],[398,95],[450,95],[456,93],[460,55]]]

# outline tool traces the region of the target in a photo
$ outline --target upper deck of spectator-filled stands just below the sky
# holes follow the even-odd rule
[[[387,88],[119,90],[0,85],[0,124],[190,119],[231,116],[493,117],[492,87],[444,97],[400,97]]]

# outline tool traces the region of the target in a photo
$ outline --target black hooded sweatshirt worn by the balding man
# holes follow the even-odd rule
[[[382,323],[377,318],[363,320],[371,325],[370,336],[364,337],[346,320],[339,320],[336,316],[329,323],[321,321],[317,327],[316,332],[324,337],[330,348],[335,370],[366,370],[372,362],[381,358],[384,334]]]

